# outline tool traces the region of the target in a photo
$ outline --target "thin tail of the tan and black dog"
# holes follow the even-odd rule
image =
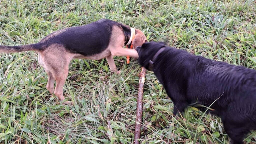
[[[37,44],[23,46],[0,46],[0,53],[17,53],[29,50],[38,51]]]

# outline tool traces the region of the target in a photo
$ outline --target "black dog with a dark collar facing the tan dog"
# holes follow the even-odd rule
[[[174,112],[192,103],[214,109],[232,144],[256,130],[256,71],[195,56],[163,43],[136,48],[140,65],[154,71],[174,102]]]

